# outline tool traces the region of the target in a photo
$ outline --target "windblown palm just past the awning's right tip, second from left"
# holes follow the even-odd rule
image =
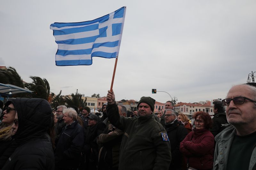
[[[50,85],[48,81],[45,78],[40,78],[36,76],[30,76],[33,81],[32,83],[26,83],[25,87],[28,88],[28,90],[33,91],[30,96],[32,98],[40,98],[48,100],[50,95]]]

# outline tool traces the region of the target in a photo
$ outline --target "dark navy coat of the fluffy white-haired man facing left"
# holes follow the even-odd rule
[[[77,121],[65,126],[54,151],[55,166],[67,169],[78,167],[83,145],[83,127]]]

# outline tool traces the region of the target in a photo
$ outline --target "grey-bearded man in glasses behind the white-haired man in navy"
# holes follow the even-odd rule
[[[66,123],[62,119],[64,116],[64,114],[63,114],[64,109],[67,109],[67,107],[64,105],[60,105],[60,106],[57,106],[57,111],[55,112],[57,115],[57,118],[58,118],[58,122],[57,122],[56,126],[54,127],[55,135],[56,135],[55,144],[57,144],[57,142],[60,138],[60,133],[61,133],[63,127],[66,125]]]

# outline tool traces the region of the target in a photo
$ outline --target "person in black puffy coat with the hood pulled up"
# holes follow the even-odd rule
[[[13,136],[16,150],[2,170],[54,169],[54,154],[50,135],[54,128],[52,108],[44,99],[17,98],[18,129]],[[51,135],[53,136],[53,135]]]

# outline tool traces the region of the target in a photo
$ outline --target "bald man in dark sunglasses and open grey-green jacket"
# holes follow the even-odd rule
[[[214,170],[256,169],[256,88],[233,86],[222,100],[227,128],[216,137]]]

